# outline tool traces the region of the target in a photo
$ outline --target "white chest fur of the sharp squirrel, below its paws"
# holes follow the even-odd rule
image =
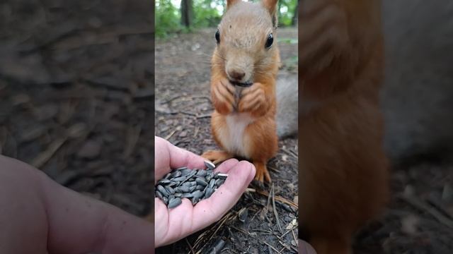
[[[228,135],[225,147],[229,152],[236,155],[247,157],[246,145],[244,144],[244,135],[246,127],[253,123],[255,119],[248,113],[233,113],[226,116],[226,126],[228,126]]]

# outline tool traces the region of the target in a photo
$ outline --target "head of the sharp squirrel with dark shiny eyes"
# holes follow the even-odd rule
[[[247,86],[275,74],[276,10],[277,0],[227,0],[226,13],[215,33],[217,47],[212,66],[223,68],[231,83]]]

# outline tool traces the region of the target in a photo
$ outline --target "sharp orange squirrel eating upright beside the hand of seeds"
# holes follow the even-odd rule
[[[202,157],[214,164],[235,156],[251,159],[261,182],[271,181],[266,163],[278,147],[276,28],[277,0],[227,0],[211,61],[211,128],[222,150]]]

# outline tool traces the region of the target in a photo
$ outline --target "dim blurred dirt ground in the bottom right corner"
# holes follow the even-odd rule
[[[357,235],[355,253],[453,253],[453,165],[415,160],[391,171],[389,207]]]

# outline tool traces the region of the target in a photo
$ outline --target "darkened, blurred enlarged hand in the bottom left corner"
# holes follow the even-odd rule
[[[0,253],[154,253],[153,225],[0,155]]]

